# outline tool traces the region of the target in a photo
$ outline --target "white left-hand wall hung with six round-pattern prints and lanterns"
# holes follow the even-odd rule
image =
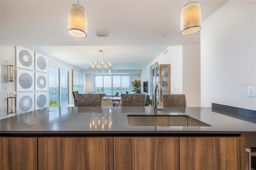
[[[26,47],[28,48],[28,47]],[[9,93],[26,93],[26,92],[16,92],[16,83],[7,83],[6,82],[6,65],[7,65],[7,60],[9,61],[13,61],[14,65],[16,65],[15,63],[15,46],[4,46],[4,45],[1,45],[0,46],[0,49],[1,49],[1,57],[0,57],[0,68],[1,68],[1,81],[0,81],[0,88],[1,88],[1,93],[0,93],[0,109],[1,109],[1,113],[0,113],[0,119],[4,119],[6,117],[12,117],[12,116],[15,116],[14,114],[11,115],[7,115],[7,92]],[[30,48],[28,48],[30,49]],[[32,49],[33,51],[36,51],[34,49]],[[36,52],[40,52],[40,51],[36,51]],[[47,56],[47,55],[46,55]],[[68,65],[67,63],[64,63],[63,61],[60,61],[60,60],[57,60],[57,59],[54,59],[50,56],[48,56],[48,64],[49,65],[52,65],[52,66],[56,66],[58,68],[61,68],[61,69],[65,69],[65,70],[68,70],[69,71],[69,87],[70,87],[70,93],[69,93],[69,101],[70,103],[74,103],[74,100],[73,100],[73,96],[72,96],[72,69],[76,69],[78,71],[81,71],[81,69],[78,69],[76,67],[73,67],[73,66],[70,66]],[[6,86],[9,86],[10,87],[10,91],[5,91],[5,87]],[[48,90],[49,91],[49,90]],[[32,93],[32,92],[30,92]]]

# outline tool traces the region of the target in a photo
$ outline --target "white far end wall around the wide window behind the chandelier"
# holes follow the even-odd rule
[[[140,80],[140,74],[112,74],[112,75],[130,75],[130,91],[133,90],[132,81]],[[86,91],[85,93],[94,91],[94,75],[86,74]],[[143,90],[142,90],[143,91]]]

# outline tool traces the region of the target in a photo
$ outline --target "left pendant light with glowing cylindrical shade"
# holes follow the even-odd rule
[[[73,4],[68,12],[68,34],[84,38],[87,36],[87,14],[82,5]]]

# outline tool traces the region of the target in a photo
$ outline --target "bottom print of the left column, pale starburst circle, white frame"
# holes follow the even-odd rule
[[[17,115],[34,111],[35,93],[17,93]]]

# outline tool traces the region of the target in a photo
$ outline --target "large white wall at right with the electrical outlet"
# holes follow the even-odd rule
[[[202,23],[201,106],[256,110],[256,1],[231,0]]]

